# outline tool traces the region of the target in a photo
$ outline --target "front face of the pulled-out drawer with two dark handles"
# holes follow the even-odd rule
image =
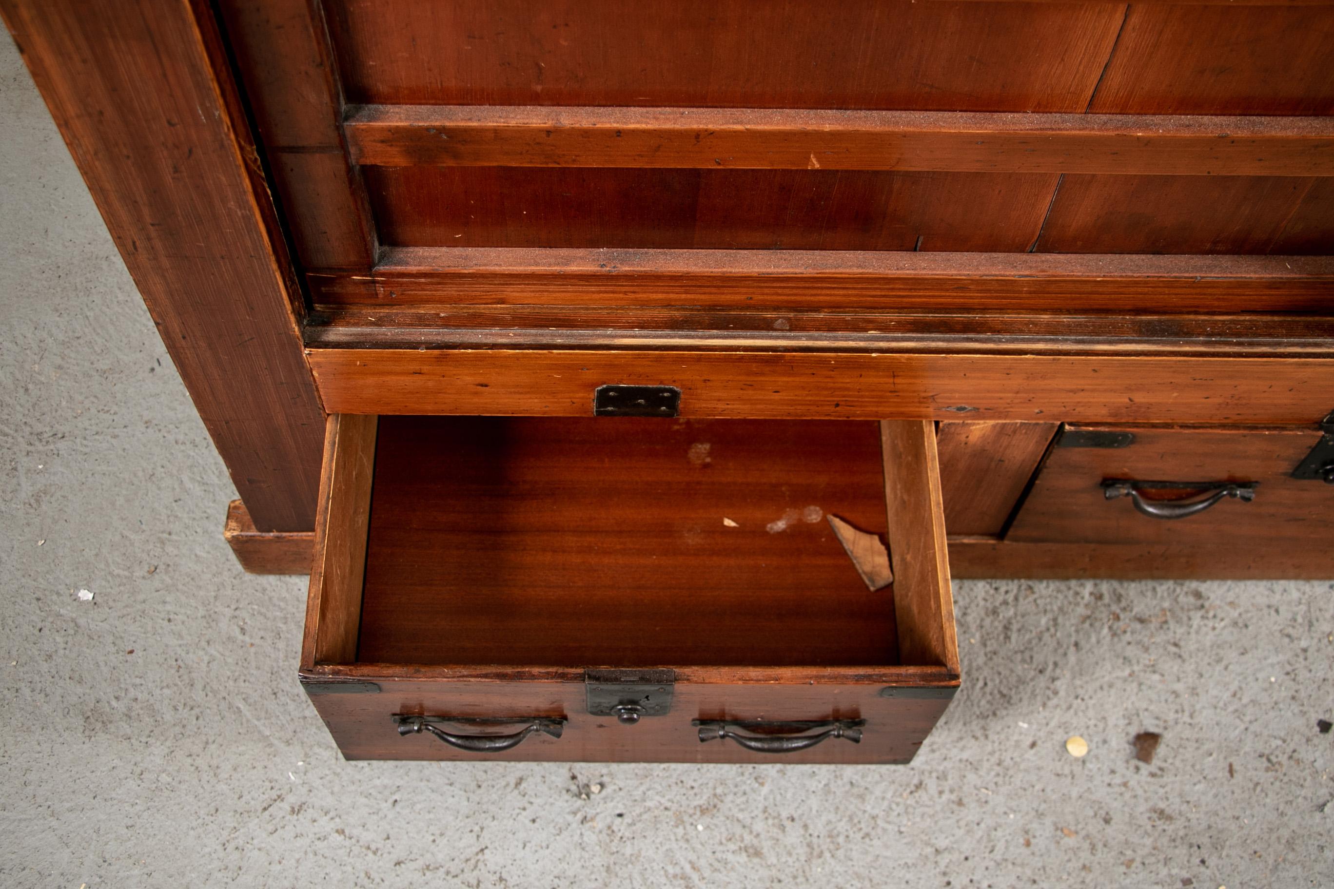
[[[952,686],[894,689],[886,685],[759,685],[678,682],[671,709],[632,725],[614,716],[591,716],[583,682],[494,682],[394,680],[379,677],[379,692],[315,685],[311,701],[348,760],[502,760],[568,762],[907,762],[954,694]],[[307,685],[311,690],[311,684]],[[451,746],[427,732],[400,734],[395,716],[456,717],[432,722],[455,736],[514,734],[526,722],[483,720],[563,718],[560,737],[531,732],[515,746],[479,753]],[[472,720],[479,720],[474,722]],[[759,736],[754,721],[864,721],[860,741],[827,737],[814,746],[752,752],[731,738],[700,741],[695,720],[742,724]],[[791,726],[791,730],[799,726]],[[804,734],[820,732],[819,726]],[[763,736],[772,738],[775,736]]]

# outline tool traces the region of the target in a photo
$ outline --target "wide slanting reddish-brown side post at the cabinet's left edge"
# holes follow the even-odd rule
[[[212,13],[169,0],[0,12],[255,525],[308,530],[324,419]]]

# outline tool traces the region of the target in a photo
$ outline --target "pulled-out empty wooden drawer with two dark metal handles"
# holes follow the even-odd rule
[[[932,424],[335,415],[300,676],[347,758],[906,762],[959,685]]]

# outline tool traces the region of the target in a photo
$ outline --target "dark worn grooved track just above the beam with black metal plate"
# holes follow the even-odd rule
[[[1334,317],[711,312],[578,307],[338,309],[305,327],[329,349],[692,349],[1334,357]]]

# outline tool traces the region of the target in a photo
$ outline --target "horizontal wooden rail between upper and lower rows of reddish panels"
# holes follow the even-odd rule
[[[362,105],[375,167],[1334,176],[1334,117]]]

